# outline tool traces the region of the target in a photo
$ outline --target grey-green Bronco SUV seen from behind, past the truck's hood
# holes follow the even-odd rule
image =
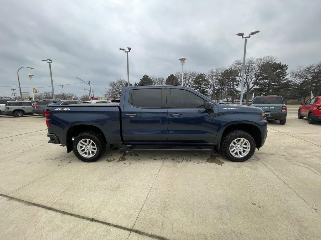
[[[282,125],[286,123],[288,110],[282,96],[257,96],[251,106],[262,108],[266,119],[278,120]]]

